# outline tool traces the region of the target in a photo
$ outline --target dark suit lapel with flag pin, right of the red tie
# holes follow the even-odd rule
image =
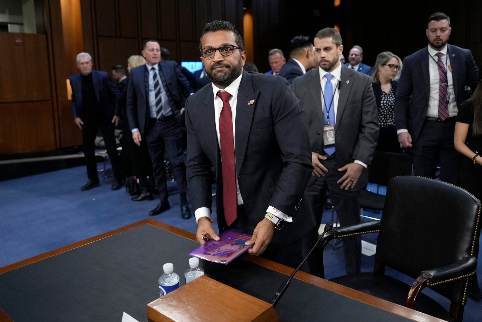
[[[238,99],[236,102],[236,126],[234,129],[234,147],[236,153],[236,172],[241,173],[244,154],[248,146],[249,131],[253,120],[254,107],[256,106],[256,98],[259,91],[254,92],[253,84],[251,84],[251,75],[243,71],[241,84],[238,90]],[[252,104],[249,102],[253,101]]]

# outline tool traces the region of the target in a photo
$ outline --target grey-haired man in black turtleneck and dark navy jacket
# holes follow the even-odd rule
[[[68,78],[72,87],[70,104],[75,125],[82,130],[82,144],[89,177],[89,181],[80,189],[89,190],[100,184],[94,143],[97,130],[100,128],[114,172],[112,190],[118,190],[122,186],[122,173],[114,127],[119,123],[119,90],[105,71],[92,70],[92,57],[88,53],[77,55],[76,62],[80,73]]]

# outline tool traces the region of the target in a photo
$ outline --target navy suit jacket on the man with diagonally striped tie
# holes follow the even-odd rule
[[[147,127],[149,117],[149,98],[146,88],[146,65],[131,70],[127,86],[127,119],[132,129],[138,128],[141,134]],[[166,60],[159,63],[159,72],[163,74],[164,89],[171,97],[170,105],[176,120],[181,119],[181,109],[189,96],[189,82],[182,74],[175,61]]]

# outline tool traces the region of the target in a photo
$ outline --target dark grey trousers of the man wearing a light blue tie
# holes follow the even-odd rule
[[[321,164],[328,169],[324,177],[317,178],[315,182],[308,185],[306,194],[308,202],[311,205],[313,214],[315,216],[316,225],[308,234],[305,235],[303,241],[303,255],[306,256],[309,250],[313,247],[318,239],[318,228],[321,224],[321,216],[323,215],[323,206],[325,201],[326,191],[330,192],[333,206],[335,207],[340,225],[346,226],[350,224],[360,223],[360,190],[346,191],[340,189],[341,184],[336,183],[345,172],[338,171],[336,167],[335,154],[328,156],[328,158],[321,160]],[[358,236],[351,236],[342,238],[343,240],[343,255],[345,257],[345,268],[347,274],[359,273],[362,262],[362,238]],[[314,273],[314,254],[307,259],[303,270],[308,273]]]

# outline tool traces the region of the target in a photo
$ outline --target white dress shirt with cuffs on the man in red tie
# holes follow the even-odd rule
[[[218,88],[216,87],[216,85],[212,83],[213,95],[214,95],[214,121],[216,125],[217,143],[219,144],[219,147],[221,147],[221,139],[219,136],[219,115],[221,114],[221,110],[223,108],[223,101],[221,98],[217,96],[217,92],[221,91],[221,92],[228,92],[229,94],[231,94],[231,97],[229,98],[229,105],[231,106],[231,117],[233,119],[233,139],[235,139],[236,105],[238,101],[238,90],[240,88],[241,78],[242,78],[242,73],[225,89]],[[234,140],[234,144],[236,145],[236,140]],[[222,158],[222,155],[221,155],[221,158]],[[238,205],[242,205],[244,203],[241,197],[240,186],[238,183],[238,176],[236,176],[236,202]],[[269,212],[273,216],[276,213],[276,217],[284,219],[287,223],[293,222],[293,218],[291,218],[290,216],[286,215],[285,213],[279,210],[275,212],[275,208],[271,206],[268,207],[266,212]],[[196,222],[199,221],[201,217],[209,217],[210,215],[211,215],[211,210],[209,210],[209,208],[207,207],[201,207],[194,210],[194,217],[196,217]]]

